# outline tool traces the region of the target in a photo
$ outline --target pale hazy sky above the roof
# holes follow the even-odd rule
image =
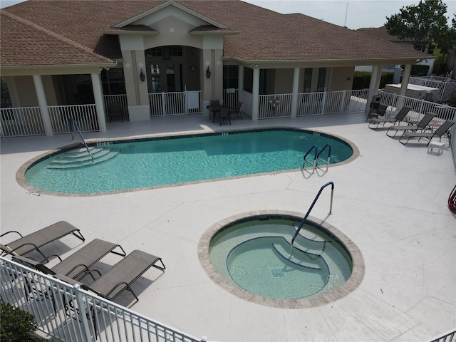
[[[404,6],[417,5],[419,0],[244,0],[250,4],[282,14],[301,13],[351,29],[380,27],[386,16],[399,13]],[[0,8],[20,0],[0,0]],[[456,13],[455,0],[443,0],[447,5],[448,24]]]

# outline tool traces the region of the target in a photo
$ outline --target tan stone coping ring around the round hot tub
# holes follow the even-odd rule
[[[259,296],[257,294],[252,294],[251,292],[246,291],[240,286],[234,284],[233,281],[229,281],[224,276],[219,274],[217,269],[215,269],[214,265],[212,264],[212,261],[209,259],[209,243],[211,242],[212,237],[214,237],[214,235],[219,232],[220,229],[227,227],[229,224],[232,224],[239,219],[253,218],[264,215],[281,215],[284,217],[296,218],[304,216],[300,212],[291,212],[286,210],[255,210],[244,212],[242,214],[236,214],[231,217],[227,217],[226,219],[222,219],[215,224],[212,224],[212,226],[209,227],[209,229],[207,229],[199,239],[198,258],[199,263],[202,265],[202,268],[204,271],[206,271],[209,278],[212,279],[215,284],[221,286],[223,289],[227,290],[234,296],[239,297],[240,299],[244,299],[246,301],[261,304],[264,306],[271,306],[281,309],[306,309],[323,306],[333,301],[337,301],[338,299],[342,299],[345,296],[348,296],[361,284],[365,272],[364,259],[363,255],[361,254],[361,250],[358,249],[356,244],[354,244],[351,239],[348,239],[346,234],[343,234],[343,232],[341,232],[339,229],[333,227],[333,225],[328,224],[328,222],[325,222],[322,219],[318,219],[312,216],[309,216],[307,220],[313,224],[320,225],[323,227],[323,229],[326,229],[328,232],[336,236],[339,239],[339,242],[343,244],[343,247],[346,248],[353,261],[353,269],[351,271],[350,278],[348,278],[348,280],[337,289],[326,294],[319,294],[301,299],[272,299],[266,298],[264,296]]]

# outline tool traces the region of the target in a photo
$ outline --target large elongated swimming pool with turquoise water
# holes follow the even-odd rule
[[[21,170],[25,187],[34,192],[102,195],[296,170],[312,146],[321,150],[327,144],[331,165],[356,155],[356,147],[342,138],[271,128],[89,142],[95,162],[83,148],[63,147],[31,160]],[[328,149],[322,152],[324,159],[327,155]]]

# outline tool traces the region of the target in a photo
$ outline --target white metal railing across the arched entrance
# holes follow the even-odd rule
[[[150,93],[150,115],[201,113],[201,90],[175,93]]]

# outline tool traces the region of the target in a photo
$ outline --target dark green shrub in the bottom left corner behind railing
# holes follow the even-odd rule
[[[45,341],[32,336],[37,325],[33,315],[21,309],[15,309],[8,303],[0,301],[0,340],[1,342],[36,342]]]

